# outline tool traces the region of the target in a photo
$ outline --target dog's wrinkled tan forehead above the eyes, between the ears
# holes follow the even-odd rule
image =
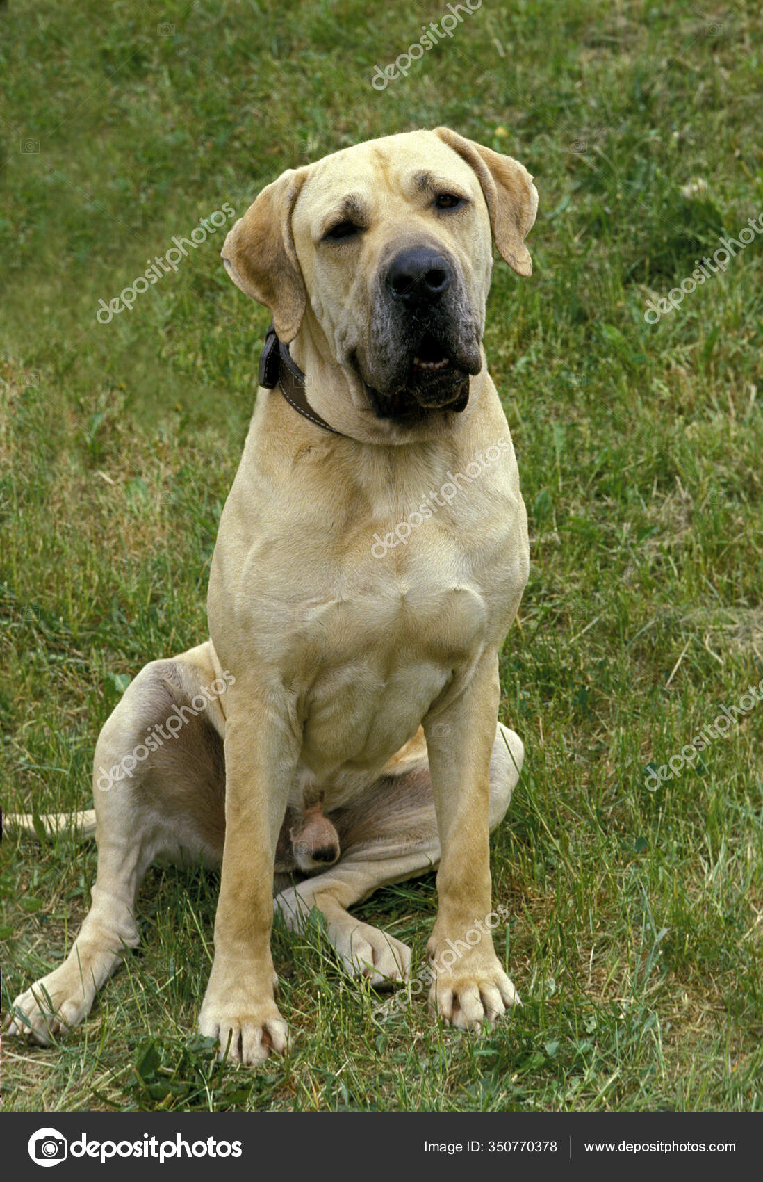
[[[409,132],[345,148],[309,165],[293,215],[294,234],[318,241],[337,215],[363,222],[379,207],[422,206],[422,196],[443,190],[481,194],[469,164],[439,136]]]

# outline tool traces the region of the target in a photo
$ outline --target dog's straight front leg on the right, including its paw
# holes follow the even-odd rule
[[[519,1001],[490,926],[488,805],[500,700],[498,662],[485,655],[444,708],[424,720],[442,858],[438,911],[428,952],[430,1008],[462,1030],[495,1021]]]

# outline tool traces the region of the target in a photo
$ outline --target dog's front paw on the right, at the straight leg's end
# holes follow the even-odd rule
[[[484,1021],[495,1022],[520,995],[501,967],[497,956],[476,966],[457,965],[435,974],[429,993],[429,1008],[444,1022],[458,1030],[477,1033]]]

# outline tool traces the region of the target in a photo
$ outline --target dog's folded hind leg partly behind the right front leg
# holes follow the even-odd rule
[[[524,748],[519,735],[498,723],[490,760],[490,830],[501,823],[520,777]],[[274,905],[287,927],[299,929],[313,907],[324,915],[326,931],[345,969],[365,975],[374,986],[404,981],[410,974],[410,948],[347,908],[379,886],[403,882],[433,869],[441,856],[426,742],[418,734],[384,768],[383,777],[351,807],[330,813],[339,833],[339,860],[324,873],[289,886]],[[484,916],[475,916],[482,921]]]

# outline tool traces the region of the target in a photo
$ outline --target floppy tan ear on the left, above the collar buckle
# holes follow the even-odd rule
[[[305,280],[294,249],[292,214],[307,169],[288,169],[262,189],[223,243],[221,256],[236,287],[273,313],[280,339],[288,344],[305,314]]]

